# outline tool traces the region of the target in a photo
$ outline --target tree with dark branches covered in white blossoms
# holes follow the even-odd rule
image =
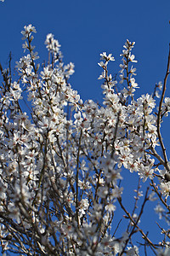
[[[52,34],[45,41],[48,62],[37,64],[33,32],[31,25],[21,32],[29,54],[17,62],[19,79],[13,81],[10,68],[0,65],[2,253],[139,255],[140,246],[145,255],[147,250],[169,255],[169,230],[160,226],[162,239],[154,243],[139,222],[147,202],[156,198],[156,212],[169,221],[170,167],[161,122],[170,111],[170,98],[165,97],[170,53],[164,83],[156,84],[152,96],[138,99],[134,42],[127,40],[122,50],[119,83],[108,71],[114,57],[101,54],[104,102],[100,106],[92,100],[83,102],[71,88],[68,79],[74,65],[64,65]],[[131,175],[137,172],[143,182],[150,180],[144,195],[137,184],[131,210],[123,201],[121,169]],[[116,236],[119,208],[127,221],[122,236]],[[138,234],[141,242],[134,244]]]

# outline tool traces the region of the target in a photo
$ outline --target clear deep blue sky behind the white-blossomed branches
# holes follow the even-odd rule
[[[140,89],[137,95],[151,93],[160,80],[163,81],[167,68],[168,44],[170,43],[170,1],[169,0],[5,0],[0,2],[0,62],[8,67],[8,54],[12,52],[13,67],[23,55],[20,31],[32,24],[37,29],[33,44],[40,55],[40,61],[47,60],[44,41],[52,32],[61,44],[65,64],[72,61],[75,73],[71,77],[72,87],[83,100],[102,100],[101,68],[97,65],[99,54],[112,53],[116,61],[111,63],[111,73],[120,68],[122,45],[128,38],[135,41],[133,53],[138,64],[136,81]],[[167,83],[170,87],[170,83]],[[167,88],[167,96],[170,90]],[[169,120],[162,125],[164,142],[169,152]],[[169,152],[170,153],[170,152]],[[123,171],[125,172],[125,171]],[[137,187],[133,175],[123,174],[124,203],[132,206],[129,195]],[[160,230],[154,223],[153,207],[144,211],[144,232],[156,239]],[[116,224],[115,224],[116,227]],[[150,228],[151,227],[151,228]],[[120,227],[123,229],[123,226]]]

